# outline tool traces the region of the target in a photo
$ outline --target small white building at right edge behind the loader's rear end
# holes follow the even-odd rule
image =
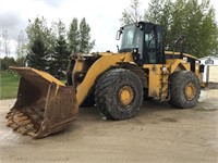
[[[205,57],[199,60],[205,65],[203,82],[218,83],[218,57]]]

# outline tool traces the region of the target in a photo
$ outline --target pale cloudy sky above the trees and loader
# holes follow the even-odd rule
[[[90,25],[92,39],[96,40],[93,51],[117,51],[117,30],[121,26],[119,21],[122,12],[130,5],[131,0],[0,0],[0,33],[7,30],[10,37],[10,57],[15,57],[17,36],[25,30],[28,20],[44,16],[48,26],[59,18],[65,23],[66,29],[73,17],[82,20]],[[149,0],[141,0],[142,13],[148,7]],[[218,1],[210,0],[217,10]],[[218,21],[217,21],[218,22]],[[2,38],[0,37],[0,40]],[[0,51],[0,58],[4,53]]]

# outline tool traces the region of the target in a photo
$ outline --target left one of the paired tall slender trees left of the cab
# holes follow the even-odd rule
[[[68,39],[69,39],[69,51],[77,53],[80,43],[80,33],[78,33],[78,21],[75,17],[71,22],[70,30],[68,33]]]

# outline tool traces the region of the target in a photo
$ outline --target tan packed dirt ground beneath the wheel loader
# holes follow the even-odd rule
[[[203,90],[194,109],[144,102],[126,121],[81,109],[69,129],[35,140],[5,126],[15,100],[0,101],[0,162],[218,163],[218,89]]]

